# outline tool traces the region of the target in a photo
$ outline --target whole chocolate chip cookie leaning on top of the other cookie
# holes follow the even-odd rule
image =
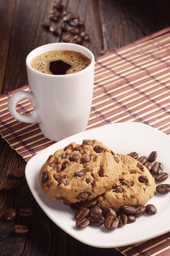
[[[65,204],[91,200],[101,195],[121,175],[119,156],[102,142],[85,139],[49,156],[39,174],[42,191]]]

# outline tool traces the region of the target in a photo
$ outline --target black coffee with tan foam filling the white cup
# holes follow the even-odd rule
[[[31,67],[45,74],[65,75],[84,70],[90,63],[91,60],[80,52],[54,50],[33,58]]]

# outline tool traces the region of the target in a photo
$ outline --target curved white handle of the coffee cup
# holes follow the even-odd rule
[[[29,99],[31,101],[31,104],[34,107],[34,110],[31,115],[19,114],[16,111],[16,105],[18,101],[22,99]],[[9,98],[9,101],[8,101],[8,110],[10,114],[18,121],[29,123],[29,124],[40,122],[39,113],[38,113],[38,110],[36,109],[37,106],[38,106],[37,99],[34,96],[34,94],[32,94],[31,92],[25,92],[25,91],[16,92]]]

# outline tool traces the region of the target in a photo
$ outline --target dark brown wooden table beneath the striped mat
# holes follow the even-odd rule
[[[103,49],[119,48],[170,25],[168,0],[64,0],[65,8],[85,22],[91,40],[83,43],[95,55]],[[27,84],[25,59],[34,48],[60,42],[41,27],[48,20],[51,0],[0,0],[0,93]],[[0,189],[13,167],[25,161],[0,138]],[[0,216],[7,208],[31,207],[34,217],[18,218],[29,225],[29,234],[15,236],[13,223],[0,222],[0,256],[118,256],[115,249],[85,245],[58,228],[40,209],[24,179],[21,186],[0,195]],[[80,233],[81,236],[81,233]]]

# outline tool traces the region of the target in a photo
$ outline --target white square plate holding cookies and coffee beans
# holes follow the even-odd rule
[[[170,137],[150,126],[140,123],[118,123],[78,133],[49,146],[32,157],[27,163],[25,175],[34,198],[49,218],[61,229],[77,240],[95,247],[120,247],[154,238],[170,231],[170,193],[155,193],[150,204],[157,207],[157,214],[140,216],[136,222],[108,231],[101,227],[89,226],[78,229],[70,207],[48,198],[40,189],[38,175],[47,157],[56,150],[75,141],[97,139],[116,153],[128,154],[136,151],[139,156],[148,157],[151,151],[158,153],[157,161],[163,163],[164,171],[170,174]],[[170,184],[170,177],[162,183]]]

